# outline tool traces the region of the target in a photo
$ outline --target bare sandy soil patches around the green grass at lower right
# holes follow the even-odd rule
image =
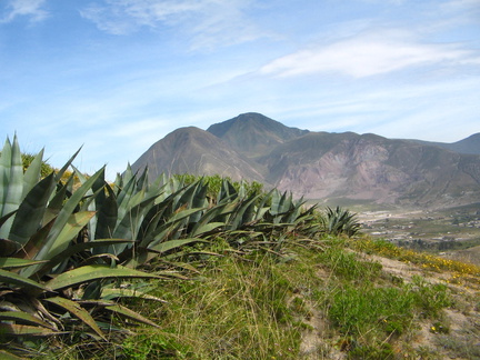
[[[413,276],[421,276],[430,283],[448,284],[453,299],[453,306],[444,309],[438,323],[424,320],[418,323],[412,333],[399,341],[407,342],[412,349],[410,356],[404,353],[403,359],[480,359],[480,287],[474,283],[451,283],[454,280],[449,272],[426,271],[421,267],[378,256],[364,256],[366,260],[378,261],[382,264],[386,276],[393,276],[410,282]],[[320,277],[324,274],[319,273]],[[312,303],[306,301],[311,313],[303,319],[309,329],[302,333],[302,359],[347,359],[347,343],[336,342],[329,336],[324,314],[317,310]],[[334,343],[336,346],[331,346]],[[403,346],[404,347],[404,346]],[[419,356],[420,353],[420,356]],[[422,354],[423,353],[423,354]]]

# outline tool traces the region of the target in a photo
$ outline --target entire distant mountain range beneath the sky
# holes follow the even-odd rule
[[[454,143],[289,128],[243,113],[207,131],[177,129],[133,164],[256,180],[317,201],[449,207],[480,202],[480,133]]]

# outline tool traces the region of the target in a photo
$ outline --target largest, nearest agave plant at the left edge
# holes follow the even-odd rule
[[[73,191],[72,177],[67,183],[61,183],[60,178],[74,157],[57,173],[42,179],[42,151],[26,171],[17,137],[12,143],[7,139],[1,151],[0,332],[3,337],[62,334],[78,329],[74,320],[78,319],[90,329],[87,333],[104,339],[94,319],[102,312],[116,312],[152,324],[111,299],[131,296],[116,286],[122,279],[164,276],[124,268],[117,263],[114,256],[93,253],[94,249],[126,246],[132,240],[84,239],[82,231],[96,216],[89,207],[103,191],[103,169]]]

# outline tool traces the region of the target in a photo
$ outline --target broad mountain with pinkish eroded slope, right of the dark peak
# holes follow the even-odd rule
[[[312,132],[259,161],[271,183],[310,199],[436,206],[480,197],[480,157],[374,134]]]

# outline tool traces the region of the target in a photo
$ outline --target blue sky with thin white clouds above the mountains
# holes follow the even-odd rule
[[[0,141],[114,178],[260,112],[311,131],[480,132],[480,0],[0,0]]]

